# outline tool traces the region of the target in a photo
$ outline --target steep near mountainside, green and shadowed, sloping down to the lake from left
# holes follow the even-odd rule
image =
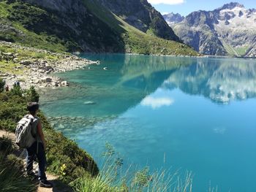
[[[129,9],[115,2],[1,0],[0,40],[55,51],[197,55],[147,1],[124,1]],[[132,12],[132,4],[140,5],[143,14]],[[131,14],[144,17],[145,28],[132,23]]]

